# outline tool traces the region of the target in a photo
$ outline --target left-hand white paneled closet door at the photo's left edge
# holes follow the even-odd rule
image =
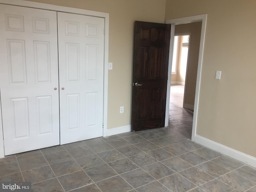
[[[56,14],[0,5],[5,155],[60,144]]]

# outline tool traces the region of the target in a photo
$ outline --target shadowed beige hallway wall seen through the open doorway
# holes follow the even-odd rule
[[[194,106],[196,93],[196,75],[200,47],[202,22],[194,22],[175,26],[175,35],[190,34],[190,48],[188,53],[188,67],[186,74],[184,103]]]

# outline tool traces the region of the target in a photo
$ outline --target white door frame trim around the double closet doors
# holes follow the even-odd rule
[[[107,136],[107,116],[108,116],[108,41],[109,41],[109,13],[97,12],[91,10],[84,10],[78,8],[70,8],[64,6],[57,6],[52,4],[44,4],[38,2],[30,2],[26,0],[0,0],[0,4],[24,6],[30,8],[39,8],[45,10],[53,10],[74,14],[82,14],[88,16],[96,16],[104,18],[105,20],[105,40],[104,40],[104,97],[103,97],[103,136]],[[1,104],[0,104],[1,107]],[[4,142],[2,134],[2,114],[0,111],[0,158],[4,157]]]

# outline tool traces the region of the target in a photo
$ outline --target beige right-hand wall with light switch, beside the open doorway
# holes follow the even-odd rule
[[[254,157],[255,10],[255,0],[166,0],[166,20],[208,14],[196,134]]]

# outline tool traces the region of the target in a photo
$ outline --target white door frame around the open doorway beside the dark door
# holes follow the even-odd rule
[[[172,77],[172,53],[173,53],[175,25],[202,21],[202,30],[201,30],[200,48],[199,48],[199,57],[198,57],[198,68],[197,68],[197,77],[196,77],[196,94],[195,94],[194,116],[193,116],[192,137],[191,137],[192,141],[195,140],[195,136],[196,136],[198,101],[199,101],[199,94],[200,94],[200,82],[201,82],[203,52],[204,52],[204,38],[205,38],[205,32],[206,32],[206,20],[207,20],[207,14],[166,20],[167,24],[171,24],[171,38],[170,38],[170,52],[169,52],[166,100],[170,99],[170,87],[171,87],[171,77]],[[170,103],[169,101],[166,101],[165,126],[168,126],[168,122],[169,122],[169,103]]]

